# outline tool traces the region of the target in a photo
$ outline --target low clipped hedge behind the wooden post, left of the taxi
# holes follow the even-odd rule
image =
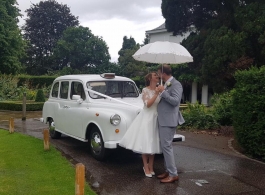
[[[28,101],[26,104],[27,111],[41,111],[44,102],[34,102]],[[0,110],[12,110],[12,111],[22,111],[21,101],[1,101]]]

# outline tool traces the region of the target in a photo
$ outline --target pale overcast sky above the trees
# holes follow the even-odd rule
[[[17,0],[21,14],[40,0]],[[109,47],[111,61],[117,61],[123,37],[132,36],[143,43],[145,31],[164,23],[161,12],[162,0],[57,0],[66,4],[80,25],[88,27],[96,36],[101,36]],[[24,18],[20,19],[20,25]]]

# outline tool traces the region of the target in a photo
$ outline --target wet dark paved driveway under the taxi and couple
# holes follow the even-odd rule
[[[0,128],[8,129],[0,123]],[[15,120],[15,131],[42,139],[46,124],[37,119]],[[73,164],[86,167],[87,180],[100,195],[178,194],[178,195],[262,195],[265,194],[265,164],[231,150],[231,137],[179,132],[185,142],[174,144],[180,181],[161,184],[146,178],[141,156],[127,150],[116,150],[105,162],[96,161],[88,153],[86,143],[63,136],[51,140]],[[155,172],[163,171],[163,158],[156,155]]]

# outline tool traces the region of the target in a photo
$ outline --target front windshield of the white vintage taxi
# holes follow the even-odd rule
[[[87,88],[114,98],[138,97],[139,91],[131,81],[91,81]],[[93,92],[88,92],[93,99],[104,98]]]

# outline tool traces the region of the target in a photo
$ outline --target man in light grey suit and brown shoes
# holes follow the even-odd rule
[[[178,124],[185,121],[179,111],[182,97],[182,85],[172,76],[171,67],[162,65],[158,68],[158,74],[165,85],[157,87],[161,100],[157,107],[158,131],[162,152],[164,155],[165,172],[158,175],[161,183],[172,183],[179,179],[175,164],[172,141]]]

